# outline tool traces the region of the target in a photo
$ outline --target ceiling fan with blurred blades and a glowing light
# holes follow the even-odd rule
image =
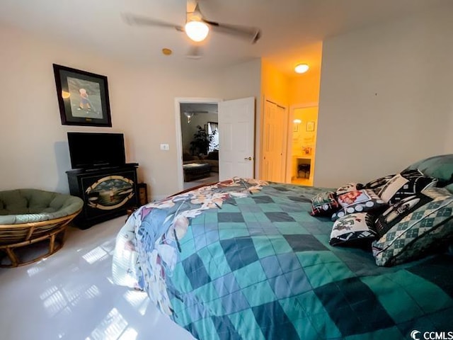
[[[138,16],[132,13],[122,13],[122,18],[126,23],[133,26],[158,26],[173,28],[179,32],[187,34],[188,37],[195,42],[195,44],[190,47],[187,57],[195,59],[201,57],[201,46],[197,42],[205,40],[210,30],[212,30],[212,32],[232,35],[236,38],[247,40],[252,44],[257,42],[261,35],[259,28],[217,23],[216,21],[208,20],[202,15],[200,5],[197,0],[187,0],[184,26],[167,23],[165,21],[149,18],[147,16]]]

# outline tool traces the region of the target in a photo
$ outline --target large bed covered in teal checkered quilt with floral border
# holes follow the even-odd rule
[[[453,167],[442,171],[436,184],[445,186]],[[376,191],[389,179],[367,186]],[[452,331],[452,186],[440,189],[452,199],[437,210],[436,251],[425,247],[414,259],[382,256],[375,234],[372,244],[362,242],[364,232],[360,246],[332,242],[333,227],[348,225],[317,214],[314,202],[338,189],[235,178],[144,205],[117,235],[113,280],[146,290],[196,339],[410,339],[413,331]],[[417,215],[420,204],[414,209]]]

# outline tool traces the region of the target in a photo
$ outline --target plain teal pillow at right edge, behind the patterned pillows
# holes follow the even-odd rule
[[[422,159],[406,168],[406,170],[415,169],[422,171],[426,176],[438,179],[440,181],[438,186],[453,183],[453,154],[441,154]]]

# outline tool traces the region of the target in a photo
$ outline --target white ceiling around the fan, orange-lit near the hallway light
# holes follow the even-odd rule
[[[171,28],[128,26],[121,18],[121,13],[137,13],[183,26],[185,0],[0,0],[0,23],[125,62],[225,67],[263,57],[282,72],[293,74],[298,62],[319,67],[325,38],[449,2],[200,0],[207,19],[256,26],[262,33],[255,45],[212,33],[200,60],[185,57],[190,40],[184,33]],[[173,50],[173,55],[162,55],[164,47]]]

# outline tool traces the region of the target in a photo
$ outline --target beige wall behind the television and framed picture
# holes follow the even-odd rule
[[[66,132],[115,131],[125,133],[127,161],[139,163],[139,179],[148,183],[150,196],[168,196],[178,189],[175,98],[259,98],[259,60],[224,74],[166,67],[165,62],[115,62],[1,26],[0,41],[0,190],[68,192]],[[108,77],[112,128],[61,124],[52,63]],[[161,143],[170,150],[161,151]]]

